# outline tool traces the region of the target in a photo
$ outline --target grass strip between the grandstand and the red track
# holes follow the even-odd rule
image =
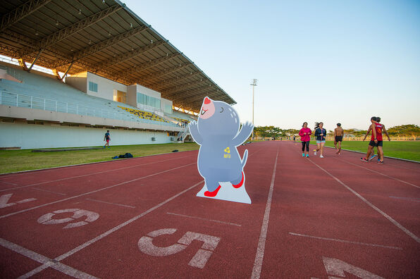
[[[152,154],[169,153],[174,149],[188,151],[199,149],[195,143],[185,144],[144,144],[121,145],[106,149],[92,149],[79,151],[32,152],[25,150],[0,150],[0,173],[28,171],[39,168],[68,166],[78,163],[92,163],[112,160],[113,156],[131,153],[141,157]],[[117,161],[118,159],[116,159]]]

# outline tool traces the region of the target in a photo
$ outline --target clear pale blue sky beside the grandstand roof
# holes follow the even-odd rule
[[[123,1],[237,104],[241,121],[420,124],[420,1]]]

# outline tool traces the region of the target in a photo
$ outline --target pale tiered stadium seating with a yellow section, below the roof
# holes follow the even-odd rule
[[[0,65],[0,68],[22,81],[0,79],[0,101],[4,105],[176,126],[154,113],[140,111],[117,101],[90,96],[51,77],[3,65]]]

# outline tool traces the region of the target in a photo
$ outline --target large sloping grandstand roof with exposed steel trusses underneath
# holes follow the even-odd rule
[[[198,112],[202,99],[235,104],[185,54],[114,0],[2,0],[0,54],[70,75],[89,71],[161,92]]]

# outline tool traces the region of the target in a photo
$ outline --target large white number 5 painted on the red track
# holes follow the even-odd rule
[[[170,256],[178,252],[183,251],[193,240],[199,240],[204,242],[201,249],[192,257],[188,263],[189,266],[197,268],[204,268],[206,262],[209,260],[211,253],[216,249],[220,237],[214,237],[211,235],[203,235],[201,233],[187,232],[183,237],[178,240],[178,243],[168,247],[156,247],[154,246],[153,238],[159,235],[172,235],[175,233],[175,228],[165,228],[161,230],[154,230],[148,233],[147,236],[140,238],[138,245],[141,252],[150,256]]]

